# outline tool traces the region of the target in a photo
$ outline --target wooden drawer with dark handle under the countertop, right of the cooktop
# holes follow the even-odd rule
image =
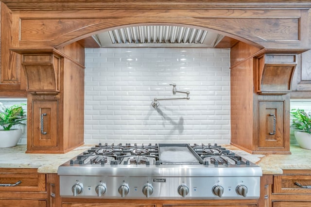
[[[300,193],[311,194],[311,189],[301,188],[295,183],[302,186],[311,186],[311,174],[309,175],[274,175],[273,178],[273,193]],[[311,205],[311,203],[309,203]]]

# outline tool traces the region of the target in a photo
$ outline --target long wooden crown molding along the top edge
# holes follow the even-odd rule
[[[310,0],[2,0],[14,10],[310,8]]]

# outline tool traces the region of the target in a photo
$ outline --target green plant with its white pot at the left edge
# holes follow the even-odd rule
[[[21,138],[21,129],[12,128],[15,125],[26,125],[26,111],[23,106],[26,104],[16,104],[5,107],[0,102],[0,148],[12,147],[17,144]]]

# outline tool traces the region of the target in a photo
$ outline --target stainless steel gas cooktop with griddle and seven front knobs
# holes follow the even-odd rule
[[[98,144],[58,168],[62,197],[257,199],[261,168],[217,144]]]

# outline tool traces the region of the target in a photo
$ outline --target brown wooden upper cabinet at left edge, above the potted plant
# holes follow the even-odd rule
[[[21,55],[11,51],[12,12],[0,3],[0,97],[26,97],[25,76],[21,66]]]

